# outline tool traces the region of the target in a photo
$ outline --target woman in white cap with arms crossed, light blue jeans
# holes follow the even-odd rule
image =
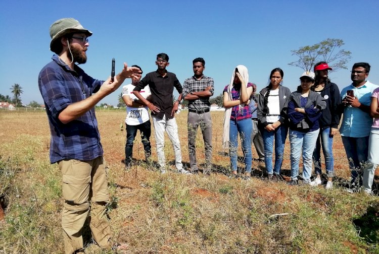
[[[318,118],[326,102],[321,95],[311,90],[314,84],[314,73],[305,72],[300,77],[300,86],[291,94],[287,113],[290,119],[291,144],[291,181],[290,185],[298,184],[299,161],[303,149],[303,180],[310,184],[312,173],[312,155],[320,132]]]

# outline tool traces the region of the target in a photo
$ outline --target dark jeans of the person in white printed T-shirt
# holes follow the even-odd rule
[[[150,145],[150,135],[151,135],[151,125],[150,120],[138,124],[138,125],[128,125],[126,124],[126,144],[125,144],[125,164],[130,164],[131,158],[133,156],[133,144],[135,135],[137,131],[141,133],[141,142],[144,144],[145,158],[151,156],[151,145]]]

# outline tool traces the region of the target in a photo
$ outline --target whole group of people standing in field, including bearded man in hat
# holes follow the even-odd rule
[[[67,254],[84,253],[82,228],[88,215],[92,237],[100,246],[108,249],[127,247],[117,244],[111,237],[106,213],[106,204],[109,201],[106,164],[94,112],[94,106],[116,91],[125,79],[131,78],[132,81],[122,89],[122,97],[127,105],[125,166],[130,166],[137,130],[142,135],[146,160],[150,160],[150,109],[162,173],[166,168],[163,150],[165,131],[174,147],[177,170],[184,174],[199,170],[195,148],[199,126],[205,143],[204,172],[210,173],[212,169],[209,97],[214,92],[214,81],[203,75],[204,59],[193,60],[194,76],[186,79],[183,87],[175,74],[167,72],[169,57],[165,53],[157,55],[157,71],[148,73],[143,79],[140,67],[128,67],[124,63],[124,68],[118,75],[101,81],[88,76],[76,64],[86,62],[88,37],[91,35],[92,32],[73,18],[54,22],[50,27],[50,49],[55,54],[38,76],[38,87],[46,107],[51,132],[50,161],[58,163],[62,172],[62,228]],[[229,148],[231,175],[236,177],[238,173],[236,151],[240,134],[245,162],[244,178],[250,179],[251,176],[252,141],[256,144],[259,159],[265,162],[269,179],[279,179],[285,141],[290,130],[291,184],[297,184],[301,147],[304,181],[313,185],[321,183],[319,163],[316,163],[316,178],[310,181],[312,154],[316,160],[320,157],[319,142],[324,151],[328,183],[331,182],[331,147],[340,119],[338,108],[342,105],[344,118],[340,132],[347,156],[351,159],[352,176],[357,176],[355,169],[368,157],[363,185],[366,192],[371,192],[373,174],[379,163],[378,156],[375,157],[373,153],[379,143],[379,89],[366,81],[369,68],[368,63],[356,63],[351,74],[353,84],[344,88],[341,96],[338,87],[327,78],[327,70],[330,68],[325,62],[316,65],[316,75],[313,72],[302,74],[301,85],[293,93],[281,85],[283,71],[276,68],[270,74],[269,85],[256,98],[256,85],[249,83],[247,68],[237,66],[223,92],[223,104],[226,108],[223,146]],[[173,103],[174,88],[179,97]],[[189,171],[183,168],[181,162],[180,142],[174,118],[182,98],[188,100]],[[372,121],[371,117],[375,117],[375,120]],[[275,164],[272,168],[274,142]]]

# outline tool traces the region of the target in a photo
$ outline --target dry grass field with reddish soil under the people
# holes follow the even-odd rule
[[[350,172],[339,135],[335,187],[326,190],[268,182],[264,164],[257,161],[251,181],[229,179],[219,111],[212,112],[210,176],[175,173],[167,136],[166,160],[172,170],[160,174],[148,167],[139,134],[135,163],[125,171],[124,117],[121,110],[97,111],[109,167],[108,212],[114,239],[129,245],[125,253],[379,253],[379,197],[344,191]],[[176,116],[182,160],[188,166],[186,118],[186,111]],[[0,253],[62,253],[61,176],[58,166],[49,163],[46,114],[0,111],[0,126],[0,201],[6,214],[0,221]],[[154,132],[151,143],[157,161]],[[197,156],[200,164],[205,162],[200,131]],[[282,172],[289,180],[288,140]],[[83,234],[86,253],[112,253],[92,242],[87,225]]]

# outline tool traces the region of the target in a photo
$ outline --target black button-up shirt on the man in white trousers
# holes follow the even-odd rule
[[[171,119],[172,106],[173,106],[173,95],[174,87],[180,94],[182,92],[182,87],[176,75],[170,72],[166,72],[166,76],[162,77],[158,70],[155,72],[148,73],[139,83],[135,86],[133,91],[141,91],[145,86],[149,85],[153,104],[159,107],[161,110],[158,113],[152,112],[152,115],[158,118]]]

